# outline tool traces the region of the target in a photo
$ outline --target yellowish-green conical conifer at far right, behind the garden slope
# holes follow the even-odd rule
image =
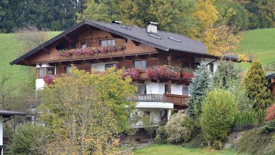
[[[253,108],[256,112],[265,111],[272,104],[272,96],[267,87],[266,74],[260,61],[253,61],[244,77],[244,87],[248,98],[253,102]]]

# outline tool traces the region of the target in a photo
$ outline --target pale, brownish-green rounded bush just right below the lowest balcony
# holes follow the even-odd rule
[[[177,114],[172,115],[170,121],[165,125],[168,142],[179,144],[190,140],[195,128],[195,125],[191,122],[191,118],[184,111],[179,111]]]

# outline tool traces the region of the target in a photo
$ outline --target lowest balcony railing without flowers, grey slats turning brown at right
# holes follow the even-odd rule
[[[143,94],[129,98],[134,102],[166,102],[174,105],[186,106],[188,96],[176,94]]]

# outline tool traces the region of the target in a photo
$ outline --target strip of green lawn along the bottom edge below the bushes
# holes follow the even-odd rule
[[[149,145],[141,149],[137,149],[134,152],[136,155],[178,155],[178,154],[188,154],[188,155],[197,155],[197,154],[214,154],[214,155],[235,155],[237,153],[231,150],[225,151],[211,151],[209,149],[191,149],[186,147],[181,147],[178,145]]]

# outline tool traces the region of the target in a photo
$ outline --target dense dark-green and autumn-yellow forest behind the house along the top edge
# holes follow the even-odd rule
[[[274,8],[274,0],[1,0],[0,32],[12,33],[24,24],[62,31],[83,19],[144,27],[151,20],[162,30],[195,37],[209,24],[274,27]]]

